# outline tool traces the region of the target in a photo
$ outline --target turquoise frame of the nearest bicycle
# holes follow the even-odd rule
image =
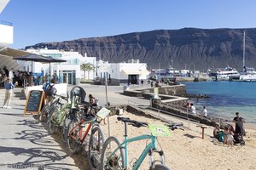
[[[138,141],[138,140],[144,140],[144,139],[151,139],[151,143],[147,144],[147,146],[143,150],[143,153],[141,154],[141,156],[139,156],[136,163],[132,167],[132,169],[138,169],[138,167],[140,167],[141,164],[143,163],[145,157],[148,155],[149,150],[156,149],[156,146],[157,146],[156,137],[153,135],[141,135],[141,136],[137,136],[137,137],[134,137],[131,139],[127,139],[127,136],[125,136],[125,141],[122,144],[119,144],[119,146],[115,150],[113,150],[110,157],[113,156],[113,154],[117,150],[119,150],[119,148],[123,148],[125,146],[125,169],[127,169],[128,168],[128,143]]]

